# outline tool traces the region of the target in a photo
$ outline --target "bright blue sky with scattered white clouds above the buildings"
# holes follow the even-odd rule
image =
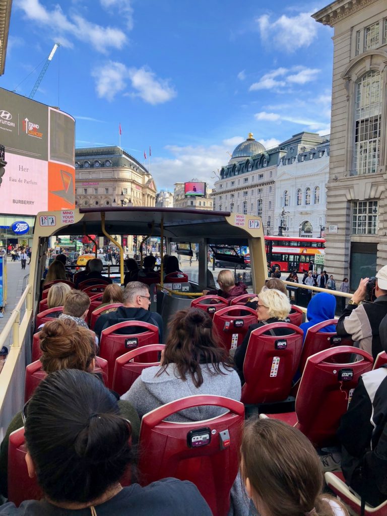
[[[333,31],[310,18],[327,4],[13,0],[0,86],[28,96],[58,41],[35,100],[75,117],[76,147],[118,144],[121,123],[158,189],[211,183],[249,132],[329,133]]]

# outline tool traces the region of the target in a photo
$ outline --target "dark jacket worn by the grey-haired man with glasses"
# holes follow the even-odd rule
[[[150,312],[144,308],[119,307],[115,312],[100,315],[95,322],[95,334],[98,335],[98,338],[101,338],[103,329],[124,321],[149,322],[149,324],[158,326],[159,341],[160,343],[163,342],[163,319],[158,313]],[[133,327],[133,329],[124,328],[118,333],[130,335],[131,333],[136,333],[136,331],[136,328]]]

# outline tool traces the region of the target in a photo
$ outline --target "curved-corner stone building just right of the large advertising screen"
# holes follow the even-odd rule
[[[77,206],[154,206],[156,192],[149,171],[120,147],[75,149]]]

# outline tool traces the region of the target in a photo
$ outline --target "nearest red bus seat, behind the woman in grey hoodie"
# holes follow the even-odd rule
[[[168,416],[200,405],[228,409],[206,421],[169,423]],[[145,414],[141,421],[139,463],[142,485],[165,477],[195,483],[215,516],[226,516],[238,473],[244,406],[222,396],[188,396]]]

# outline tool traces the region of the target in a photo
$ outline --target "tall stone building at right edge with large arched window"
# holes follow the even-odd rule
[[[336,0],[326,269],[356,288],[387,264],[387,3]]]

